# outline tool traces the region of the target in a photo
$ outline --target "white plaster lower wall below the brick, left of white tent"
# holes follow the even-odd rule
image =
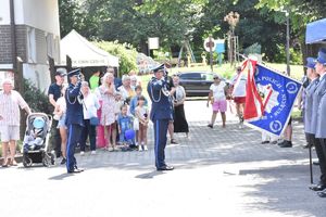
[[[24,78],[30,79],[35,87],[39,88],[45,93],[48,93],[51,84],[51,77],[48,65],[40,64],[23,64]]]

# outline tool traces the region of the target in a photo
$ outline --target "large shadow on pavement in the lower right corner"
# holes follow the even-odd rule
[[[309,189],[306,165],[279,165],[241,171],[260,181],[239,187],[247,188],[244,195],[251,199],[248,209],[268,209],[289,216],[325,216],[325,199]]]

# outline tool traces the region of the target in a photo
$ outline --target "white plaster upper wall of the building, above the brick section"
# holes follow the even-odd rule
[[[60,36],[58,0],[14,0],[16,25],[28,25]],[[0,0],[0,25],[10,24],[10,0]]]

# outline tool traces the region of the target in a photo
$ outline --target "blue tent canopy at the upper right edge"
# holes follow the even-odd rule
[[[326,42],[326,18],[309,23],[305,31],[305,43]]]

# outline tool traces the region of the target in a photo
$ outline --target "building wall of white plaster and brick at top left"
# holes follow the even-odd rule
[[[14,10],[24,77],[46,90],[50,84],[48,55],[54,63],[60,61],[58,0],[14,0]],[[0,69],[12,66],[11,42],[10,0],[0,0]]]

